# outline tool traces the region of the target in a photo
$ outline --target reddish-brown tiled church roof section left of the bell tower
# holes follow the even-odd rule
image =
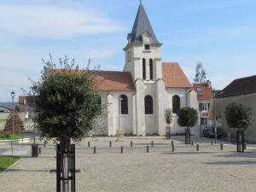
[[[96,90],[98,91],[132,91],[135,90],[131,73],[98,71],[96,75]]]

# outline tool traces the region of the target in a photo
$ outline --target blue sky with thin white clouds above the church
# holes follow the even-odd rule
[[[1,0],[0,102],[17,100],[37,80],[49,54],[80,67],[123,70],[127,33],[139,0]],[[256,0],[143,0],[162,46],[190,82],[198,61],[221,90],[256,74]]]

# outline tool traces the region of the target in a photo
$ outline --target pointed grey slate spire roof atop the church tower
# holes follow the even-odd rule
[[[141,0],[132,31],[128,34],[129,43],[143,44],[143,34],[150,36],[150,44],[160,44],[154,34],[154,30],[148,20],[148,15],[146,14]]]

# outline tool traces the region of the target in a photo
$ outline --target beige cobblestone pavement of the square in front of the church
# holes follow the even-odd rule
[[[93,141],[92,141],[93,140]],[[113,141],[109,148],[109,141]],[[96,138],[76,145],[77,190],[88,192],[164,192],[164,191],[256,191],[256,150],[237,154],[236,147],[210,144],[208,139],[196,139],[195,146],[183,144],[183,137],[171,142],[162,137]],[[90,148],[87,146],[90,141]],[[130,146],[133,141],[133,148]],[[151,147],[154,141],[154,147]],[[146,146],[150,146],[146,153]],[[97,154],[93,154],[93,147]],[[124,146],[124,153],[120,147]],[[0,146],[1,148],[1,146]],[[54,145],[42,148],[38,158],[21,158],[0,175],[1,192],[55,191]]]

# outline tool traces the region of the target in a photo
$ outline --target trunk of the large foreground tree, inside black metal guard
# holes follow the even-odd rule
[[[64,140],[61,142],[61,155],[63,155],[63,162],[61,162],[62,170],[63,170],[63,182],[62,182],[62,191],[69,192],[69,182],[68,182],[68,148],[70,146],[70,140]]]

